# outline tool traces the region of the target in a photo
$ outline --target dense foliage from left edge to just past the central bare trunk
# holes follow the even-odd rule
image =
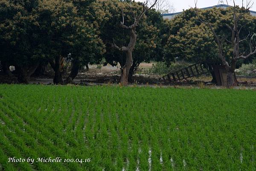
[[[103,54],[108,63],[123,66],[125,55],[115,52],[111,43],[115,39],[124,45],[129,40],[129,34],[119,27],[122,12],[126,23],[133,21],[127,3],[130,1],[0,0],[1,64],[5,68],[14,65],[19,81],[28,82],[38,65],[49,62],[55,84],[62,83],[63,58],[72,61],[72,79],[79,68],[101,61]],[[141,12],[141,3],[131,4],[136,14]],[[140,62],[163,56],[163,17],[154,9],[146,16],[137,29],[132,71]]]

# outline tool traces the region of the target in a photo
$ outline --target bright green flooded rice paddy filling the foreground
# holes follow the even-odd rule
[[[253,90],[0,85],[0,171],[255,171],[255,159]]]

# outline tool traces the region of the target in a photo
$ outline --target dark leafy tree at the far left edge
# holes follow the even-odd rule
[[[0,1],[0,61],[6,70],[14,65],[18,81],[22,83],[29,81],[45,56],[38,23],[38,3],[38,0]]]

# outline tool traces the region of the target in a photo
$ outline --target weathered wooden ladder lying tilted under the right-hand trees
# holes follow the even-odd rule
[[[176,72],[170,72],[169,74],[163,76],[163,80],[165,82],[175,82],[187,78],[192,78],[199,75],[209,74],[210,71],[212,71],[212,65],[210,64],[193,64],[186,68],[183,68],[182,70],[178,70]]]

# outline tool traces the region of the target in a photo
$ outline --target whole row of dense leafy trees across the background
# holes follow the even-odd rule
[[[125,24],[133,22],[127,3],[131,3],[136,14],[141,12],[142,4],[130,0],[0,0],[1,71],[27,83],[31,75],[43,75],[49,65],[54,71],[54,83],[62,84],[67,71],[63,61],[70,67],[66,83],[71,83],[84,66],[99,64],[102,58],[105,62],[101,65],[123,67],[125,54],[112,44],[113,40],[120,46],[127,46],[129,42],[128,30],[119,26],[122,14]],[[218,34],[229,39],[226,24],[232,24],[232,10],[214,8],[199,12]],[[175,61],[221,64],[215,38],[209,28],[198,21],[194,9],[184,11],[174,20],[164,20],[161,12],[160,7],[148,10],[137,27],[130,76],[141,62],[160,62],[157,66],[161,65],[161,71],[156,66],[152,68],[153,73],[159,74],[171,71],[166,66],[176,65]],[[243,25],[241,37],[246,37],[248,32],[255,33],[256,18],[245,14],[239,21],[239,27]],[[248,52],[248,42],[241,43],[240,49]],[[224,53],[230,61],[233,51],[227,42]],[[253,58],[255,55],[239,60],[236,68],[252,62]],[[9,70],[10,66],[15,66],[14,72]]]

